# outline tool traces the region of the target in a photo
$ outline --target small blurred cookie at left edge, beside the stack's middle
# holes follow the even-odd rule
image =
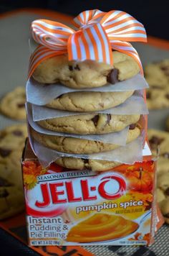
[[[0,101],[0,111],[2,114],[12,119],[26,119],[25,104],[26,94],[24,87],[16,87],[10,91]]]

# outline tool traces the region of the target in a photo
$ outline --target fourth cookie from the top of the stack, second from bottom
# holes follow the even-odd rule
[[[132,127],[127,134],[127,143],[132,142],[140,135],[138,127]],[[108,144],[95,140],[82,140],[74,137],[61,137],[36,132],[32,129],[32,136],[45,147],[59,152],[70,154],[92,154],[115,150],[119,145]]]

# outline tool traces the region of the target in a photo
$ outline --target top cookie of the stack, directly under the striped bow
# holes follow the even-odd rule
[[[70,88],[92,88],[106,83],[124,81],[139,73],[134,58],[112,51],[113,66],[94,60],[69,61],[67,55],[57,55],[40,63],[33,78],[39,83],[62,83]]]

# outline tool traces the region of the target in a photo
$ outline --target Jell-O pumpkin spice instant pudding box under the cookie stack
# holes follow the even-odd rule
[[[105,172],[42,168],[27,141],[22,161],[29,244],[151,244],[155,162]]]

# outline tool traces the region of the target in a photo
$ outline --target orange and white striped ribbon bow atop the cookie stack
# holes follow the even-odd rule
[[[37,19],[31,32],[39,46],[29,63],[29,77],[44,59],[68,54],[69,60],[96,60],[113,65],[112,49],[135,58],[143,68],[130,42],[147,42],[143,24],[125,12],[89,10],[73,21],[74,29],[59,22]],[[130,42],[127,42],[130,41]]]

